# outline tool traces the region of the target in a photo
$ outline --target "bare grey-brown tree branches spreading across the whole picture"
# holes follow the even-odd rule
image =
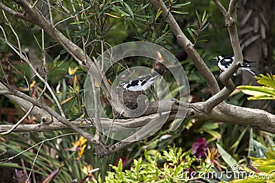
[[[102,128],[106,128],[111,126],[113,122],[112,131],[121,131],[123,128],[133,128],[133,127],[143,127],[151,120],[156,119],[157,112],[170,112],[170,116],[168,116],[168,120],[174,120],[175,118],[185,118],[185,113],[179,114],[176,116],[177,111],[179,110],[187,110],[188,118],[197,118],[201,120],[211,120],[211,121],[220,121],[227,122],[238,125],[252,125],[256,126],[263,131],[269,131],[275,133],[275,116],[273,114],[269,114],[266,111],[260,109],[249,109],[245,107],[237,107],[234,105],[226,105],[223,103],[223,100],[227,98],[232,91],[234,91],[234,83],[230,79],[236,69],[238,69],[239,64],[243,61],[243,57],[241,55],[241,49],[239,47],[239,38],[236,31],[236,4],[237,1],[230,1],[229,13],[226,12],[225,8],[221,6],[221,3],[217,0],[213,0],[217,7],[221,10],[223,15],[225,16],[225,24],[228,26],[228,32],[230,34],[230,40],[232,43],[232,47],[234,50],[235,61],[233,66],[230,67],[227,71],[221,74],[220,79],[221,82],[225,85],[225,87],[220,91],[219,86],[217,84],[217,80],[214,78],[213,74],[210,72],[206,64],[203,62],[199,54],[197,54],[195,48],[192,43],[187,39],[184,33],[177,25],[177,22],[173,18],[172,14],[168,12],[163,1],[160,0],[151,0],[157,8],[162,10],[162,14],[166,16],[166,20],[170,25],[170,28],[173,30],[174,34],[177,36],[177,39],[184,47],[184,50],[188,53],[192,61],[195,63],[197,69],[205,78],[206,83],[208,83],[208,87],[211,89],[212,97],[208,99],[206,102],[201,103],[183,103],[175,98],[170,98],[166,100],[155,101],[154,103],[150,103],[147,111],[145,112],[145,116],[140,118],[131,118],[131,119],[103,119],[100,118],[100,122]],[[71,54],[78,64],[83,65],[87,70],[89,70],[91,66],[91,58],[89,58],[86,53],[80,49],[77,45],[72,43],[67,37],[65,37],[59,30],[53,27],[52,23],[49,23],[45,17],[37,10],[36,8],[29,6],[27,1],[18,0],[17,3],[25,10],[27,13],[24,17],[22,14],[18,12],[14,12],[10,10],[8,7],[5,7],[3,3],[0,3],[0,8],[9,14],[12,14],[14,17],[18,17],[20,19],[30,21],[39,25],[47,34],[52,36],[53,39],[58,41],[66,50]],[[26,18],[27,17],[27,18]],[[110,85],[107,85],[107,79],[104,78],[104,74],[101,73],[100,70],[100,62],[95,61],[91,67],[92,76],[94,76],[95,81],[101,80],[103,77],[104,82],[101,83],[100,87],[104,94],[107,95],[109,99]],[[107,82],[107,83],[106,83]],[[48,131],[48,130],[59,130],[59,129],[74,129],[84,138],[92,142],[96,146],[96,150],[98,151],[98,156],[100,158],[104,157],[104,155],[109,155],[110,153],[114,153],[115,151],[119,151],[120,149],[126,147],[132,142],[118,142],[116,144],[111,144],[107,147],[100,140],[87,133],[83,129],[85,128],[94,128],[94,125],[91,125],[89,122],[83,122],[83,125],[78,127],[78,124],[82,119],[74,120],[73,122],[67,120],[60,114],[56,113],[53,109],[48,107],[47,105],[43,105],[40,101],[31,98],[21,92],[18,92],[14,89],[11,89],[8,85],[4,85],[0,80],[0,93],[5,94],[5,96],[11,98],[11,100],[16,101],[16,103],[23,107],[25,111],[30,110],[30,107],[34,105],[34,109],[32,109],[32,114],[37,116],[39,120],[42,121],[41,124],[38,125],[19,125],[17,129],[14,129],[16,132],[23,131]],[[110,99],[111,100],[111,99]],[[171,106],[171,107],[170,107]],[[159,107],[159,108],[158,108]],[[49,123],[43,122],[43,119],[50,118]],[[93,119],[94,120],[94,119]],[[167,121],[168,121],[167,120]],[[62,123],[62,124],[61,124]],[[58,127],[57,127],[58,126]],[[1,125],[1,131],[7,131],[12,128],[12,125]],[[82,129],[83,128],[83,129]],[[139,136],[140,134],[136,134]],[[133,136],[132,138],[135,138]]]

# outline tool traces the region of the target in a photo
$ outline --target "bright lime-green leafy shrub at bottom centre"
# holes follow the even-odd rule
[[[114,172],[107,173],[106,182],[188,182],[199,179],[199,177],[190,177],[191,170],[197,173],[212,171],[212,165],[203,162],[203,159],[198,160],[190,155],[189,151],[183,152],[181,148],[175,146],[169,146],[168,151],[156,152],[154,155],[145,150],[144,157],[145,161],[142,158],[133,160],[130,170],[123,171],[121,159],[118,166],[110,165]],[[199,162],[199,166],[193,165],[194,162]]]

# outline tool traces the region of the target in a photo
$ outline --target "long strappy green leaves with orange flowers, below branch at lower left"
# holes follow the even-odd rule
[[[114,155],[109,160],[98,160],[94,148],[75,133],[62,134],[61,131],[54,131],[32,135],[25,133],[23,136],[13,133],[5,140],[0,142],[0,169],[23,171],[22,177],[25,180],[31,175],[30,177],[36,177],[37,182],[80,182],[97,167],[104,169],[101,174],[105,175],[107,162],[115,160]],[[7,162],[8,160],[10,161]],[[98,172],[93,171],[90,177],[95,175]]]

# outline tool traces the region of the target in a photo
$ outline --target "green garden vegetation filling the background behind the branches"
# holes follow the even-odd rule
[[[56,9],[61,8],[58,6],[58,1],[54,1],[54,3],[56,3]],[[129,41],[156,43],[173,52],[184,67],[190,84],[191,102],[205,101],[211,96],[205,80],[177,43],[175,35],[170,31],[165,21],[165,17],[162,17],[161,12],[150,1],[74,1],[74,3],[62,1],[62,3],[64,6],[70,7],[69,14],[72,16],[78,14],[78,21],[68,19],[56,25],[56,28],[80,47],[84,46],[81,37],[89,38],[85,48],[90,53],[90,57],[97,57],[102,52],[102,43],[104,50]],[[76,10],[73,10],[71,3]],[[226,0],[221,3],[227,7],[229,1]],[[197,52],[219,80],[219,68],[212,58],[217,54],[232,54],[230,39],[221,12],[212,1],[168,1],[166,4],[170,5],[171,12],[173,12],[181,29],[195,43]],[[80,12],[83,8],[91,5],[92,7],[86,12]],[[14,2],[10,2],[9,6],[10,8],[17,8],[17,4]],[[239,3],[239,6],[243,6],[243,2]],[[44,13],[47,14],[47,10]],[[3,14],[0,17],[3,17]],[[52,17],[54,22],[63,19],[62,14],[57,12]],[[40,70],[42,61],[41,58],[37,57],[36,52],[41,50],[37,47],[34,37],[41,40],[41,29],[28,23],[19,23],[17,19],[12,17],[8,17],[8,19],[17,28],[17,32],[20,32],[21,44],[24,45],[23,50],[28,52],[33,61],[36,61],[33,63],[36,65],[36,69],[41,73],[48,73],[48,83],[50,83],[54,92],[58,94],[58,100],[61,101],[67,118],[74,120],[80,116],[84,117],[85,109],[82,99],[83,83],[86,76],[85,69],[77,65],[72,56],[69,56],[49,36],[49,39],[45,39],[45,45],[48,47],[47,70]],[[206,21],[203,22],[204,20]],[[10,34],[8,25],[4,23],[3,18],[1,18],[1,25],[5,28],[6,33]],[[268,37],[268,39],[274,38],[274,33],[274,24],[271,24],[270,35],[273,35],[273,37]],[[1,36],[3,35],[1,34]],[[270,51],[272,58],[274,58],[274,50],[270,49]],[[32,78],[33,73],[29,66],[21,62],[3,41],[0,42],[0,58],[1,78],[7,78],[12,86],[26,94],[30,94],[30,96],[35,96],[37,91],[42,90],[43,85],[39,83],[39,79]],[[274,63],[274,60],[271,60],[271,62]],[[134,58],[130,58],[130,61],[126,63],[129,67],[146,65],[153,68],[151,61],[142,59],[136,61]],[[261,61],[259,64],[261,65]],[[122,62],[121,65],[125,65],[125,63]],[[263,74],[271,71],[267,65],[261,68],[260,72]],[[122,69],[120,65],[115,65],[107,73],[107,78],[113,81]],[[252,76],[248,76],[251,80],[256,80]],[[168,74],[164,77],[169,80]],[[28,86],[25,78],[32,85]],[[251,84],[242,83],[240,76],[233,78],[233,80],[236,85]],[[173,83],[170,83],[170,85],[173,87]],[[52,98],[47,94],[42,100],[45,100],[45,103],[50,105],[52,109],[58,109]],[[106,98],[102,96],[101,100],[106,100]],[[226,102],[239,106],[254,106],[253,103],[246,104],[246,100],[247,96],[236,89]],[[16,109],[17,111],[12,121],[9,122],[16,122],[17,119],[23,116],[23,111],[8,98],[0,96],[0,101],[0,109]],[[106,105],[105,107],[108,110],[110,106]],[[261,108],[274,112],[274,103],[265,101]],[[111,115],[110,110],[109,113]],[[0,115],[1,124],[8,122],[8,115]],[[34,123],[36,123],[34,118],[30,117],[25,120],[25,124]],[[107,176],[106,181],[109,182],[113,179],[118,180],[118,177],[115,178],[115,176],[120,176],[122,182],[126,182],[127,179],[123,180],[123,178],[135,180],[136,177],[133,176],[133,171],[141,170],[138,168],[139,166],[149,166],[152,161],[155,161],[155,166],[149,167],[148,169],[151,170],[149,172],[142,172],[145,177],[156,169],[164,171],[163,175],[172,174],[168,169],[173,169],[174,166],[177,169],[176,171],[192,168],[192,171],[199,171],[200,169],[207,172],[211,169],[220,172],[229,169],[234,162],[245,164],[252,171],[259,173],[254,169],[258,166],[252,167],[251,162],[252,160],[263,159],[250,159],[248,156],[267,159],[273,157],[274,159],[274,156],[266,155],[268,149],[274,148],[274,135],[252,129],[249,126],[186,119],[177,131],[171,132],[170,125],[170,122],[166,122],[166,125],[154,136],[135,142],[126,149],[102,159],[94,155],[94,147],[89,142],[87,143],[85,139],[75,133],[72,134],[73,131],[71,130],[11,133],[8,136],[0,136],[1,159],[16,155],[16,158],[12,161],[0,164],[2,169],[0,175],[5,175],[0,177],[0,182],[26,180],[30,172],[32,172],[30,177],[33,182],[34,180],[36,182],[48,182],[50,180],[52,182],[85,182],[85,180],[93,182],[101,180],[104,182],[105,176]],[[94,129],[89,129],[89,131],[92,132]],[[67,133],[69,134],[66,135]],[[43,143],[37,144],[39,142]],[[37,145],[34,146],[35,144]],[[168,148],[169,145],[171,147]],[[21,153],[22,151],[23,153]],[[178,151],[180,151],[179,154],[177,154]],[[154,158],[152,159],[151,156]],[[119,160],[121,161],[119,162]],[[177,160],[179,162],[175,162]],[[169,162],[173,162],[173,164],[169,164]],[[203,166],[206,163],[208,166]],[[109,164],[113,166],[109,166]],[[168,166],[166,166],[167,164]],[[210,166],[210,164],[212,165]],[[197,167],[200,168],[197,169]],[[131,173],[126,171],[123,175],[119,174],[130,169]],[[269,172],[266,169],[259,170]],[[157,175],[155,173],[154,176],[156,177],[149,181],[164,179],[165,177],[158,177]],[[146,181],[142,180],[141,177],[137,180]],[[169,179],[164,180],[166,182],[170,181]],[[217,181],[222,180],[229,181],[226,177],[221,177]]]

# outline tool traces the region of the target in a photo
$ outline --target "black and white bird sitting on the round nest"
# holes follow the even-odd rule
[[[163,71],[164,72],[164,71]],[[159,74],[162,74],[163,72],[153,72],[153,74],[144,76],[141,78],[137,78],[135,80],[129,80],[126,83],[120,83],[120,87],[126,90],[130,91],[145,91],[148,89],[153,83],[155,83],[155,79]]]

